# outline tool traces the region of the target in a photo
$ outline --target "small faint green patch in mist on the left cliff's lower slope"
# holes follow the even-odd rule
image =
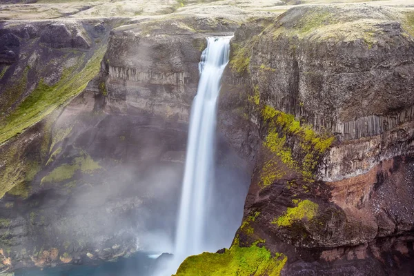
[[[82,152],[81,157],[75,158],[71,164],[63,164],[48,175],[41,179],[41,184],[44,183],[56,183],[63,180],[71,179],[75,172],[81,170],[83,173],[92,173],[94,170],[102,168],[97,162],[95,162],[90,155],[86,152]]]

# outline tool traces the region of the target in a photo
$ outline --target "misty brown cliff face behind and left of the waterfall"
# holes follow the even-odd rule
[[[15,54],[0,67],[2,270],[170,250],[201,51],[237,24],[128,20],[1,30]],[[223,139],[218,149],[218,193],[237,194],[220,208],[241,215],[248,175]],[[217,218],[231,239],[240,217]]]

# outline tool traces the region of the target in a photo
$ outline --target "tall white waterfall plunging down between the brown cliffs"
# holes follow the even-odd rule
[[[228,63],[231,37],[209,37],[199,63],[200,80],[193,100],[186,168],[175,239],[175,255],[184,258],[206,250],[204,226],[208,186],[214,176],[215,126],[220,80]]]

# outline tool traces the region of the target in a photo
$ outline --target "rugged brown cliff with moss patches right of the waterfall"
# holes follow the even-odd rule
[[[244,221],[177,275],[257,246],[282,264],[248,260],[268,275],[411,275],[412,18],[302,7],[235,32],[219,122],[253,168]]]

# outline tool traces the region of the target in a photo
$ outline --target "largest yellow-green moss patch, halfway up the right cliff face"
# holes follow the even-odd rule
[[[318,161],[335,138],[327,132],[317,133],[311,125],[301,124],[293,115],[275,110],[271,106],[263,108],[262,119],[268,127],[264,146],[277,155],[288,168],[301,173],[305,181],[313,182],[313,173]],[[293,158],[292,150],[287,143],[288,137],[297,138],[304,155],[302,158]],[[277,166],[277,161],[267,161],[262,168],[259,185],[268,186],[284,175],[285,172]]]

